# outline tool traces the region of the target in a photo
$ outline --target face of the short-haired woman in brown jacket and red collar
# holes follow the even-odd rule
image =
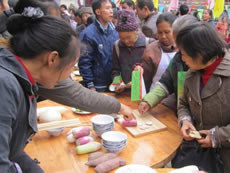
[[[198,55],[196,59],[192,59],[192,57],[189,56],[183,48],[179,47],[179,50],[181,52],[182,60],[190,69],[201,70],[209,65],[209,64],[203,64],[202,62],[203,58],[201,55]]]

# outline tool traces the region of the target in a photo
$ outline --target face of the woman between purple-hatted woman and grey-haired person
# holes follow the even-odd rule
[[[173,29],[168,22],[161,22],[157,25],[157,35],[160,43],[164,46],[174,44]]]

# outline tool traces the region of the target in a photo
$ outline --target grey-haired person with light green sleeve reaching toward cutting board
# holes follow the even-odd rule
[[[177,33],[182,28],[197,21],[197,18],[191,15],[184,15],[177,18],[172,25],[174,39],[176,39]],[[178,73],[187,70],[187,65],[181,59],[181,53],[177,52],[173,59],[170,61],[169,66],[161,76],[160,80],[156,83],[155,87],[143,98],[142,102],[139,104],[139,112],[143,114],[149,111],[150,108],[155,107],[170,94],[173,95],[168,97],[164,104],[176,111],[176,96],[178,95]]]

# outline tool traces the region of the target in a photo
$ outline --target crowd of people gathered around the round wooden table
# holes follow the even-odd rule
[[[128,106],[100,94],[109,91],[117,76],[130,83],[133,70],[143,74],[148,92],[137,108],[141,114],[159,103],[177,113],[183,142],[172,166],[229,172],[227,13],[218,22],[212,10],[205,9],[199,18],[185,4],[176,14],[160,13],[152,0],[121,0],[119,7],[109,0],[93,0],[78,9],[55,0],[18,0],[13,5],[1,0],[0,7],[3,172],[43,172],[24,152],[37,132],[38,96],[135,118]],[[77,62],[83,85],[69,77]],[[202,138],[189,136],[192,130]]]

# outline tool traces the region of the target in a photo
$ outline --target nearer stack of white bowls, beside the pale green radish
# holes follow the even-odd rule
[[[119,131],[109,131],[101,135],[102,145],[112,153],[119,153],[127,144],[127,135]]]

